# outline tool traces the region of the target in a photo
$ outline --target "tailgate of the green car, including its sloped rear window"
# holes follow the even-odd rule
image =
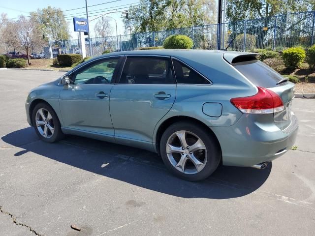
[[[259,60],[245,60],[232,65],[255,86],[268,88],[276,92],[284,103],[284,110],[274,113],[274,122],[284,130],[292,122],[292,99],[294,84],[284,81],[284,77]]]

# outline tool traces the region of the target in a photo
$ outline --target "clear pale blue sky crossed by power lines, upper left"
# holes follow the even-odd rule
[[[89,11],[89,20],[95,19],[97,16],[100,16],[104,13],[110,13],[106,14],[105,16],[111,16],[117,21],[117,31],[118,34],[124,34],[124,24],[122,22],[122,13],[117,11],[123,11],[127,10],[130,4],[137,5],[139,4],[139,0],[87,0],[88,6],[95,5],[95,4],[101,4],[98,6],[91,6],[88,7]],[[108,3],[106,3],[108,2]],[[85,7],[85,0],[0,0],[0,14],[6,13],[7,18],[15,18],[19,15],[30,15],[31,11],[36,11],[38,8],[44,8],[47,6],[52,7],[59,7],[63,11],[79,8],[79,7]],[[122,8],[117,9],[116,8]],[[70,10],[65,11],[63,14],[66,16],[67,21],[69,22],[69,31],[71,32],[71,36],[73,39],[77,38],[77,32],[74,32],[73,29],[73,20],[72,17],[77,16],[81,18],[86,18],[85,8],[77,9],[77,10]],[[90,23],[90,36],[94,37],[94,26],[97,22],[97,19],[94,21],[91,21]],[[116,29],[115,29],[115,21],[111,21],[111,25],[113,28],[113,35],[116,35]]]

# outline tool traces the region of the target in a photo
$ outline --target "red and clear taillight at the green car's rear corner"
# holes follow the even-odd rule
[[[284,103],[277,93],[262,87],[257,89],[253,96],[232,98],[230,101],[244,114],[271,114],[284,110]]]

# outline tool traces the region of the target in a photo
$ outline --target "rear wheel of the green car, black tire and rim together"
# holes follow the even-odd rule
[[[180,137],[185,137],[185,140]],[[188,148],[183,149],[185,142]],[[186,121],[174,123],[164,131],[160,153],[168,170],[189,181],[209,177],[221,161],[220,145],[213,134]]]

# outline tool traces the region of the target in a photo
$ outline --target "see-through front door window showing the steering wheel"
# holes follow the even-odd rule
[[[110,84],[118,58],[105,59],[93,64],[75,75],[74,84]]]

